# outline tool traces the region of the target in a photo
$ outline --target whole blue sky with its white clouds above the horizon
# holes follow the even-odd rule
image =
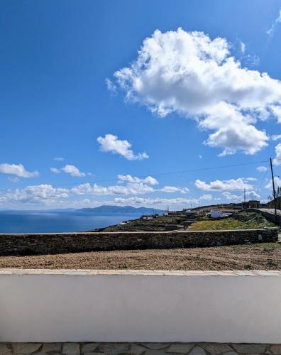
[[[281,1],[0,3],[0,209],[266,202]]]

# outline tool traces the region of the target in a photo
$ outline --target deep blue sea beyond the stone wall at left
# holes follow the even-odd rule
[[[81,212],[0,211],[0,233],[90,231],[139,217],[140,214],[106,215]]]

